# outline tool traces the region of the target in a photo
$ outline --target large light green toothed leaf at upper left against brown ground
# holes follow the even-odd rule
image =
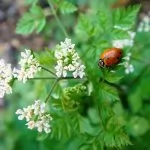
[[[46,18],[44,11],[38,7],[33,6],[30,12],[25,13],[19,20],[16,28],[16,33],[27,35],[36,31],[39,33],[46,25]]]

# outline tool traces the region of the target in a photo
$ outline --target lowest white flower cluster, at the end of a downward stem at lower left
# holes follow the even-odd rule
[[[52,117],[46,112],[46,104],[36,100],[34,104],[16,111],[19,120],[25,119],[29,129],[37,128],[38,132],[51,132]]]

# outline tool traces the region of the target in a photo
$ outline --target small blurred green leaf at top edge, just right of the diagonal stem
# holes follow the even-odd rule
[[[62,14],[69,14],[75,12],[77,7],[68,1],[62,1],[59,9]]]

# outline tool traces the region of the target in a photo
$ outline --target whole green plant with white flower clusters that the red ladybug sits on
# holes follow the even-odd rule
[[[141,96],[136,82],[148,69],[137,50],[140,6],[112,8],[113,0],[46,2],[43,8],[38,0],[26,0],[29,11],[21,16],[16,32],[41,34],[55,46],[38,53],[26,48],[13,69],[0,60],[0,97],[14,93],[19,82],[32,83],[35,99],[29,105],[24,102],[16,114],[43,142],[68,141],[74,150],[132,147],[149,130],[146,112],[134,106]],[[100,68],[100,54],[113,47],[123,51],[121,61]],[[140,132],[142,124],[145,130]]]

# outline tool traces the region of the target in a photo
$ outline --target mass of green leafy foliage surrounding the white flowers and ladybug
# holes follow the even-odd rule
[[[53,117],[51,134],[37,136],[34,131],[30,131],[31,139],[35,137],[38,139],[39,150],[148,149],[149,141],[146,139],[150,138],[148,61],[150,45],[147,43],[149,36],[137,34],[135,46],[131,49],[123,49],[123,55],[132,50],[133,57],[140,60],[132,59],[136,70],[133,74],[125,75],[121,65],[109,69],[100,69],[97,66],[100,53],[112,47],[113,40],[129,38],[127,29],[131,30],[135,26],[140,6],[110,10],[109,0],[85,1],[82,5],[81,1],[54,0],[48,1],[54,3],[50,5],[51,10],[54,7],[54,12],[52,11],[50,16],[45,16],[45,10],[35,5],[36,0],[26,1],[32,7],[19,20],[17,33],[29,34],[34,31],[39,33],[44,30],[41,33],[45,39],[49,41],[50,36],[53,36],[50,45],[56,45],[64,38],[60,32],[60,29],[63,30],[63,25],[60,24],[65,22],[63,20],[65,15],[67,19],[69,16],[73,23],[68,24],[67,21],[65,22],[67,25],[64,23],[66,31],[76,44],[75,49],[86,66],[86,77],[83,80],[60,79],[55,87],[47,103]],[[77,11],[76,6],[79,6],[78,13],[72,13]],[[70,13],[72,14],[67,15]],[[55,72],[57,60],[54,49],[46,49],[35,56],[40,64]],[[145,58],[144,61],[143,58]],[[144,70],[144,67],[147,69]],[[18,105],[24,106],[27,103],[26,99],[38,97],[45,100],[45,95],[52,88],[55,76],[46,71],[38,75],[52,79],[28,82],[24,88],[23,85],[15,83],[16,91],[24,89],[13,95],[13,99],[19,96],[23,101],[19,102],[15,108],[19,107]],[[21,128],[23,132],[26,132],[23,124]],[[19,137],[25,137],[25,141],[29,140],[26,134],[22,135],[20,132],[18,134],[12,143],[16,142],[18,145]],[[23,143],[20,143],[18,147],[20,148],[21,145],[24,145],[25,149],[28,148]],[[34,146],[32,148],[36,149]]]

